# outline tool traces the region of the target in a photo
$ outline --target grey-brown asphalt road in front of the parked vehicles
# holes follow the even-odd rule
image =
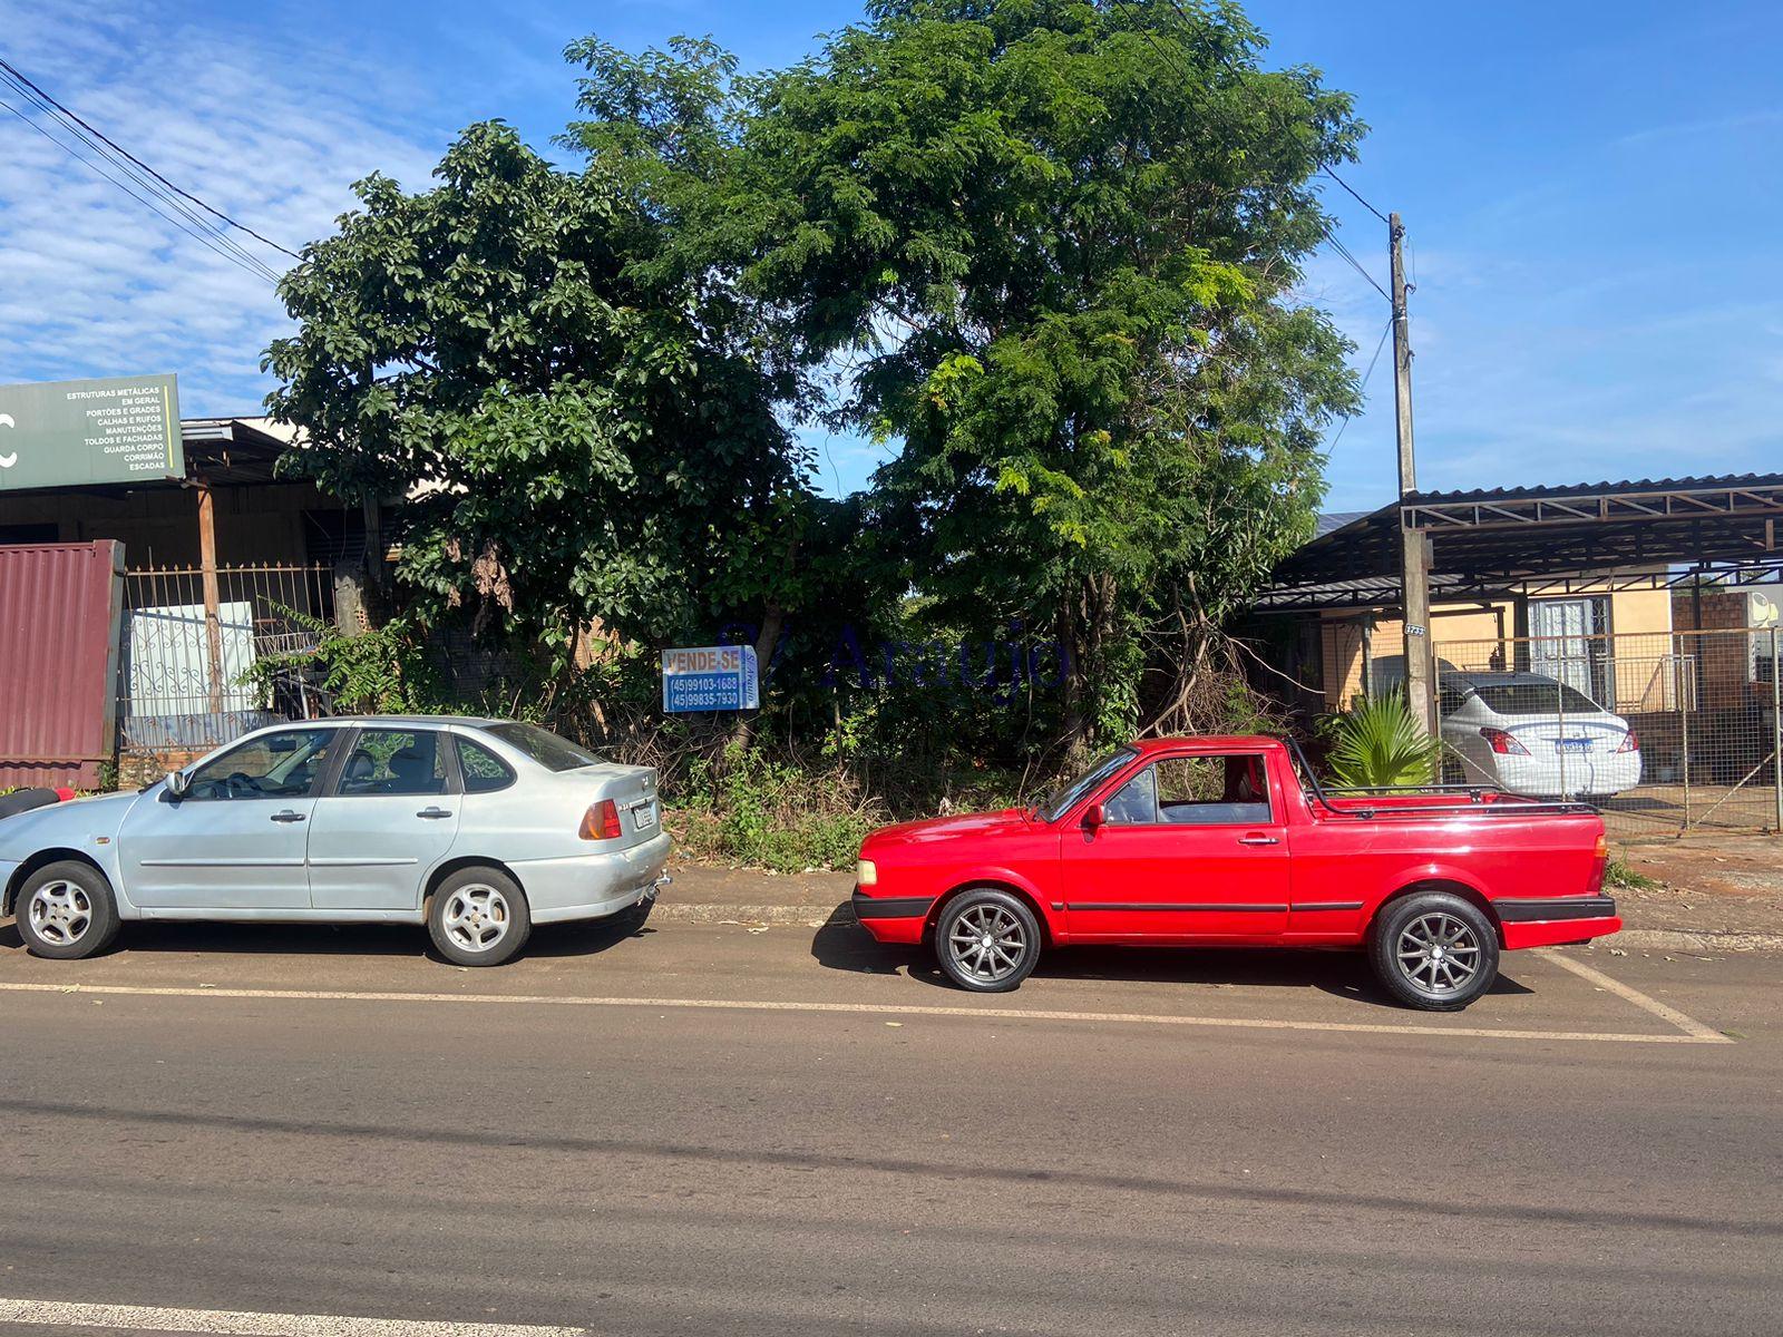
[[[160,1326],[18,1300],[1779,1332],[1783,957],[1567,956],[1696,1029],[1532,954],[1425,1018],[1286,952],[1061,956],[981,1000],[840,922],[542,932],[494,972],[410,931],[144,929],[61,964],[0,929],[0,1332]],[[333,1330],[291,1323],[212,1326]]]

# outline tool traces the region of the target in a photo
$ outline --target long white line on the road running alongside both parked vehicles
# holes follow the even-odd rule
[[[1230,1030],[1335,1030],[1362,1036],[1469,1036],[1475,1039],[1605,1041],[1615,1045],[1728,1045],[1726,1036],[1699,1027],[1701,1034],[1624,1034],[1606,1030],[1508,1030],[1494,1027],[1393,1025],[1373,1021],[1287,1021],[1250,1016],[1173,1016],[1170,1013],[1061,1013],[1025,1007],[940,1007],[867,1002],[770,1002],[765,998],[581,998],[547,993],[373,993],[362,989],[212,989],[134,984],[25,984],[0,982],[4,993],[84,993],[137,998],[264,998],[283,1002],[398,1002],[398,1004],[485,1004],[524,1007],[660,1007],[738,1013],[842,1013],[858,1016],[979,1016],[1015,1021],[1109,1021],[1159,1027],[1214,1027]],[[1644,997],[1644,995],[1642,995]],[[1647,1000],[1651,1002],[1651,1000]],[[1660,1004],[1655,1004],[1660,1005]],[[1671,1020],[1671,1018],[1667,1018]],[[1689,1020],[1689,1018],[1685,1018]],[[1694,1025],[1694,1023],[1692,1023]]]

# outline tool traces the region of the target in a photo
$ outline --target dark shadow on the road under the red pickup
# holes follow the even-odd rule
[[[856,975],[909,975],[940,989],[959,991],[934,964],[934,956],[927,948],[875,943],[847,904],[836,906],[824,927],[811,938],[811,956],[829,970]],[[1305,988],[1373,1007],[1405,1011],[1403,1004],[1375,982],[1368,959],[1360,952],[1282,947],[1061,947],[1039,959],[1032,977]],[[1492,997],[1528,995],[1533,989],[1501,972],[1487,993]]]

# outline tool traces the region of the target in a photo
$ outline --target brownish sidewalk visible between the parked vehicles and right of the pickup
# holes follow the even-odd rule
[[[1769,877],[1767,859],[1774,861]],[[1626,927],[1606,947],[1697,956],[1783,950],[1783,874],[1776,872],[1783,843],[1762,840],[1728,854],[1705,845],[1665,852],[1642,847],[1630,852],[1630,863],[1656,886],[1610,888]],[[770,874],[679,861],[669,872],[674,884],[663,890],[654,918],[676,923],[815,929],[838,907],[847,915],[854,891],[850,874]]]

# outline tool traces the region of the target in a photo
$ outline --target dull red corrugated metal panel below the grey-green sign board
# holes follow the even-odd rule
[[[118,756],[123,544],[0,547],[0,790],[96,788]]]

